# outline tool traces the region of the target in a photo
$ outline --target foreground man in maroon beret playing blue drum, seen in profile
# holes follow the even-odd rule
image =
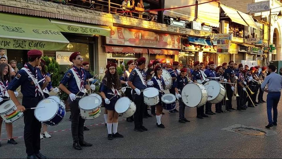
[[[40,64],[42,52],[39,50],[28,51],[28,63],[18,71],[18,74],[8,86],[8,93],[18,110],[23,112],[24,116],[24,142],[26,145],[27,158],[47,158],[42,155],[40,150],[40,131],[41,122],[34,116],[34,110],[26,110],[33,108],[43,99],[43,91],[49,82],[50,77],[45,78],[45,82],[40,82],[43,76],[40,69],[36,68]],[[23,94],[22,104],[19,103],[14,91],[21,86]],[[31,102],[32,101],[32,102]]]

